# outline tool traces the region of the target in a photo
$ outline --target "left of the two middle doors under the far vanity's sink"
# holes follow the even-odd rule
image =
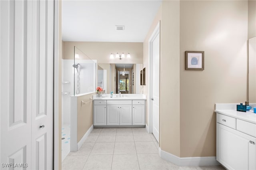
[[[119,125],[119,106],[107,106],[107,125]]]

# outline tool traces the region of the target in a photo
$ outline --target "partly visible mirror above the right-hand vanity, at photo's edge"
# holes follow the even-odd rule
[[[256,103],[256,37],[248,41],[248,98]]]

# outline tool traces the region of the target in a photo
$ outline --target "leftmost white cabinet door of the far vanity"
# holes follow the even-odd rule
[[[107,125],[106,116],[107,116],[106,105],[95,105],[94,106],[93,125],[95,125],[95,126]]]

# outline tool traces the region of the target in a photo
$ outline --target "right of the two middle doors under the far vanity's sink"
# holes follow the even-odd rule
[[[120,106],[120,125],[132,125],[132,106]]]

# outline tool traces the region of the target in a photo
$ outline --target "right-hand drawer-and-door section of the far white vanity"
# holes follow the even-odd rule
[[[132,101],[132,125],[146,125],[144,100]]]

